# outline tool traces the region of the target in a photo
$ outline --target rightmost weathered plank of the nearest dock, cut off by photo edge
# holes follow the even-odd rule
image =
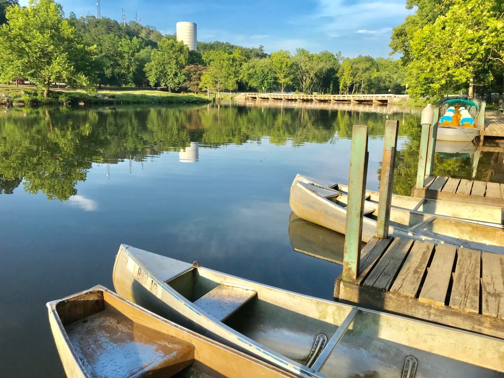
[[[504,255],[481,255],[481,313],[504,319]]]

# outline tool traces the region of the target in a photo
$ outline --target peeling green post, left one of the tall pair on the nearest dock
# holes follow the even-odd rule
[[[342,280],[344,281],[355,281],[359,276],[367,157],[367,126],[354,125],[350,149],[347,219],[343,249]]]

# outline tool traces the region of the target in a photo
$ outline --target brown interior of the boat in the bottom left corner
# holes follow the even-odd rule
[[[77,358],[93,378],[230,376],[208,358],[219,356],[222,349],[203,351],[201,343],[184,331],[106,291],[66,298],[55,311]]]

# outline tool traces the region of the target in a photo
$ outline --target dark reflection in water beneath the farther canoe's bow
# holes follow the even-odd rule
[[[302,254],[343,265],[345,235],[299,218],[289,216],[289,239],[292,248]],[[366,243],[362,242],[362,246]]]

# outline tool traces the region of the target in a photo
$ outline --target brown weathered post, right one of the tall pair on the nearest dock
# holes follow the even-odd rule
[[[397,132],[399,121],[385,122],[385,140],[383,144],[382,174],[380,176],[380,201],[376,219],[376,237],[389,236],[390,206],[394,183],[394,162],[396,159]]]

